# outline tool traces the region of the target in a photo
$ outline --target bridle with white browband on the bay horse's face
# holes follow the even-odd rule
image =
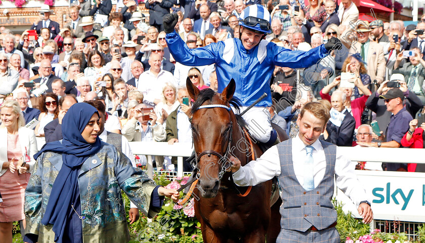
[[[230,107],[225,106],[225,105],[205,105],[205,106],[198,107],[198,109],[196,109],[196,110],[199,110],[199,109],[208,109],[208,108],[224,108],[228,112],[230,112],[230,110],[231,110]],[[226,149],[226,152],[225,152],[224,156],[221,155],[219,152],[214,151],[214,150],[204,150],[201,153],[199,153],[199,155],[197,155],[196,152],[195,152],[195,161],[196,161],[195,168],[198,170],[198,172],[196,174],[196,178],[199,179],[200,172],[199,172],[199,169],[198,169],[198,162],[199,162],[199,160],[200,160],[200,158],[202,156],[207,155],[208,157],[210,157],[211,155],[215,155],[215,156],[217,156],[219,158],[219,161],[223,160],[224,158],[228,158],[227,156],[229,155],[229,152],[230,152],[230,144],[232,143],[232,129],[233,129],[233,122],[230,122],[229,139],[227,141],[227,149]],[[193,130],[192,130],[192,132],[193,132]],[[219,180],[223,177],[224,173],[229,168],[230,168],[230,166],[229,167],[222,166],[222,169],[221,169],[221,171],[219,173]]]

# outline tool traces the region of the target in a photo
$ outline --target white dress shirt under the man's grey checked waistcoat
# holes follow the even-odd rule
[[[292,139],[292,162],[295,177],[304,184],[304,161],[307,158],[306,145],[297,135]],[[313,150],[313,178],[317,187],[322,181],[326,170],[325,152],[319,140],[311,144]],[[357,179],[352,162],[336,149],[335,161],[336,186],[347,195],[353,203],[359,206],[361,201],[367,200],[366,191]],[[233,180],[239,186],[257,185],[261,182],[280,175],[280,160],[277,146],[267,150],[260,158],[249,162],[233,173]]]

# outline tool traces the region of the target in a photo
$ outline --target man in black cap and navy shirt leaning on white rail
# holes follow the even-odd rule
[[[401,139],[409,130],[409,122],[413,120],[403,106],[404,92],[400,88],[392,88],[387,93],[379,95],[379,99],[384,100],[387,111],[392,113],[390,123],[384,128],[385,133],[379,136],[378,142],[358,142],[358,144],[376,148],[399,148]],[[407,164],[388,163],[382,166],[388,171],[407,171]]]

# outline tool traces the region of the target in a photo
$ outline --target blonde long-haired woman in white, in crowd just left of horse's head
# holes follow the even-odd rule
[[[170,82],[165,83],[162,87],[162,101],[155,106],[155,113],[158,117],[156,122],[163,124],[164,127],[168,115],[180,106],[180,103],[177,101],[176,92],[176,86],[174,84]]]

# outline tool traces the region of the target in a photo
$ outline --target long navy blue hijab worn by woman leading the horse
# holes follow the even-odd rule
[[[42,153],[52,151],[62,154],[62,167],[53,183],[46,212],[41,219],[44,225],[53,224],[55,242],[62,243],[64,230],[72,213],[71,205],[79,198],[78,171],[84,161],[101,148],[99,137],[88,143],[81,135],[93,114],[98,111],[87,103],[77,103],[66,112],[62,120],[61,141],[49,142],[34,155],[36,160]]]

